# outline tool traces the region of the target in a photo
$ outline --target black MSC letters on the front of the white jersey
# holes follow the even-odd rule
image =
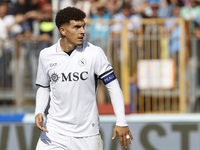
[[[78,80],[87,80],[88,79],[88,72],[69,72],[67,75],[64,73],[62,74],[62,82],[66,81],[78,81]]]

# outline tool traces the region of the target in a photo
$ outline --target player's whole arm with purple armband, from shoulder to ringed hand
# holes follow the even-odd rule
[[[121,146],[127,147],[127,140],[129,145],[133,136],[129,130],[125,117],[124,96],[119,86],[118,80],[115,77],[113,68],[108,62],[108,59],[101,48],[98,49],[94,57],[94,71],[107,87],[115,115],[117,117],[116,126],[113,130],[113,137],[119,135]]]

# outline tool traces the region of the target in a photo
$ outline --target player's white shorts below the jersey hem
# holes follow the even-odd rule
[[[101,135],[70,137],[55,131],[41,132],[36,150],[103,150]]]

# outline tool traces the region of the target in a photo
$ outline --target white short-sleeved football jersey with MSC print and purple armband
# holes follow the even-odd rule
[[[59,40],[41,51],[36,84],[50,86],[47,129],[74,137],[99,133],[97,78],[105,84],[116,79],[100,47],[83,41],[68,55]]]

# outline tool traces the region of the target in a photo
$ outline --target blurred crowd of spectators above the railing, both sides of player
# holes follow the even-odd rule
[[[194,22],[194,35],[200,37],[200,0],[59,0],[59,9],[67,6],[80,8],[89,19],[182,17]],[[48,41],[53,28],[51,0],[0,0],[1,42],[7,38]]]

